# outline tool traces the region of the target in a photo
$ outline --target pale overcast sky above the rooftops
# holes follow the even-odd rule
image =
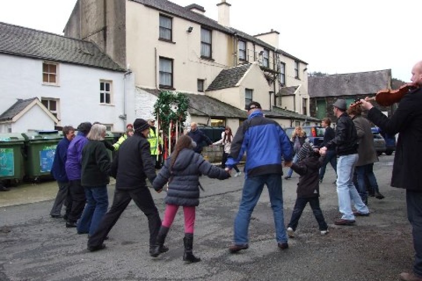
[[[204,7],[218,20],[221,0],[173,0]],[[307,62],[308,72],[391,69],[410,81],[422,60],[422,0],[227,0],[230,24],[250,35],[280,32],[279,49]],[[63,34],[76,0],[0,0],[0,22]],[[1,40],[1,39],[0,39]]]

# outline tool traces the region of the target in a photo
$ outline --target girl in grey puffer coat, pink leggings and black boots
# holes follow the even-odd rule
[[[200,154],[195,153],[193,151],[195,145],[189,136],[180,136],[173,153],[166,160],[152,184],[155,190],[161,191],[168,182],[164,220],[151,256],[156,257],[162,252],[161,248],[176,212],[179,206],[183,206],[185,221],[183,260],[188,262],[201,260],[192,253],[195,208],[199,205],[199,173],[219,180],[227,179],[230,175],[224,169],[211,165]]]

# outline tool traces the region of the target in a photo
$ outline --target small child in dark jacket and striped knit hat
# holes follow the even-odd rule
[[[297,184],[296,203],[294,204],[290,222],[287,225],[287,235],[289,237],[294,237],[294,231],[297,228],[300,216],[307,203],[309,203],[313,215],[316,221],[318,221],[321,234],[325,235],[329,232],[319,200],[319,171],[324,163],[325,153],[325,150],[318,152],[318,149],[313,150],[309,143],[304,143],[297,154],[298,163],[291,164],[291,169],[299,174],[300,178]]]

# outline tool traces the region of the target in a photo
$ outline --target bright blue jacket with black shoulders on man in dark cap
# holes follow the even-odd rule
[[[260,110],[252,112],[233,138],[226,166],[233,168],[247,153],[246,176],[283,174],[282,161],[291,161],[290,139],[274,120],[265,118]]]

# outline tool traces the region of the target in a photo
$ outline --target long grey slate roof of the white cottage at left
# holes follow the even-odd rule
[[[93,43],[0,22],[0,53],[125,72]]]

